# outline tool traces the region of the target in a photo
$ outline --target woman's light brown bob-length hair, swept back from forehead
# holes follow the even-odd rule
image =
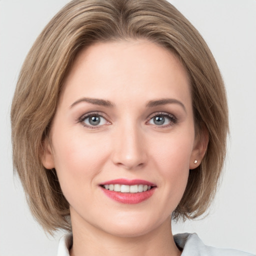
[[[225,88],[208,46],[190,22],[166,0],[72,0],[40,33],[23,63],[11,106],[13,166],[32,214],[52,233],[71,230],[69,204],[55,169],[41,162],[65,77],[81,49],[95,42],[150,40],[173,52],[191,87],[196,136],[209,141],[201,164],[189,171],[173,219],[206,211],[216,191],[226,152]]]

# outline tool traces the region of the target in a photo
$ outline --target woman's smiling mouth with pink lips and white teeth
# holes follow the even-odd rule
[[[120,202],[135,204],[152,196],[156,185],[141,179],[115,179],[99,185],[109,198]]]

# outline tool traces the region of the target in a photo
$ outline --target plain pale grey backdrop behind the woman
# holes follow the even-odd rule
[[[0,0],[0,256],[56,255],[12,175],[9,111],[18,72],[36,36],[67,0]],[[209,245],[256,252],[256,1],[170,0],[199,30],[221,69],[230,139],[222,185],[207,217],[173,223]]]

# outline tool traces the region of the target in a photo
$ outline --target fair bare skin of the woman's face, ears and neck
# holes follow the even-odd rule
[[[166,98],[172,101],[148,106]],[[102,116],[99,125],[82,118],[91,112]],[[161,125],[153,118],[159,115]],[[83,49],[65,80],[42,158],[46,168],[56,169],[70,204],[70,255],[180,255],[170,215],[189,169],[205,152],[200,141],[189,79],[170,51],[147,40]],[[147,180],[156,188],[140,203],[120,203],[99,186],[117,178]]]

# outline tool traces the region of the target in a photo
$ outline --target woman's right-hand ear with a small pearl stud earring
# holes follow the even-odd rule
[[[196,133],[193,150],[189,160],[189,169],[194,169],[201,163],[209,142],[208,130],[204,125]]]

